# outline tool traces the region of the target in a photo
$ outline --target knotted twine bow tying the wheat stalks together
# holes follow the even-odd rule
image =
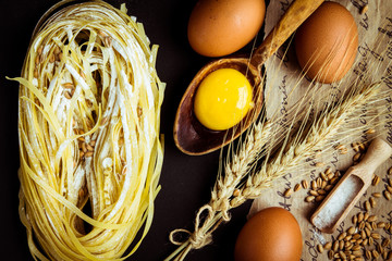
[[[207,216],[201,223],[201,213],[207,211]],[[170,233],[170,241],[174,245],[181,246],[186,241],[189,241],[193,249],[203,248],[210,243],[212,243],[212,232],[217,228],[217,225],[213,222],[215,211],[211,206],[205,204],[199,209],[195,219],[195,231],[191,233],[187,229],[179,228]],[[201,225],[200,225],[201,224]],[[186,240],[180,241],[174,238],[179,233],[185,233],[188,235]]]

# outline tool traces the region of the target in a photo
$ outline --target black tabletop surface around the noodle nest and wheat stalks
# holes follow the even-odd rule
[[[33,29],[39,17],[56,0],[0,0],[0,166],[1,166],[1,260],[33,260],[25,228],[20,222],[19,207],[19,140],[17,91],[15,82],[23,65]],[[166,137],[164,164],[156,199],[152,226],[142,246],[130,260],[163,260],[175,246],[169,233],[175,228],[193,231],[197,210],[210,199],[210,188],[218,173],[219,151],[191,157],[176,149],[172,129],[181,97],[197,71],[210,59],[195,53],[186,38],[189,13],[196,0],[117,0],[108,1],[117,8],[125,2],[128,14],[145,26],[152,44],[160,46],[157,71],[167,90],[162,105],[161,132]],[[260,36],[259,36],[260,37]],[[247,47],[246,47],[247,48]],[[246,52],[243,49],[241,52]],[[192,251],[186,260],[232,260],[235,238],[245,222],[247,202],[231,211],[232,220],[213,234],[213,243]]]

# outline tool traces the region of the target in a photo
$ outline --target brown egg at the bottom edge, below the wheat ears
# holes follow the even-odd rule
[[[298,222],[287,210],[271,207],[252,216],[235,243],[235,261],[297,261],[303,240]]]

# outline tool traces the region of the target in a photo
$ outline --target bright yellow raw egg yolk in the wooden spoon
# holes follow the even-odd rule
[[[223,130],[240,123],[253,105],[247,78],[234,69],[219,69],[198,87],[194,111],[204,126]]]

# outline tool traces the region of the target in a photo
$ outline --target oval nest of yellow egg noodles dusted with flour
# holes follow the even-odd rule
[[[64,7],[35,33],[15,78],[35,260],[124,260],[147,234],[163,159],[157,49],[101,1]]]

